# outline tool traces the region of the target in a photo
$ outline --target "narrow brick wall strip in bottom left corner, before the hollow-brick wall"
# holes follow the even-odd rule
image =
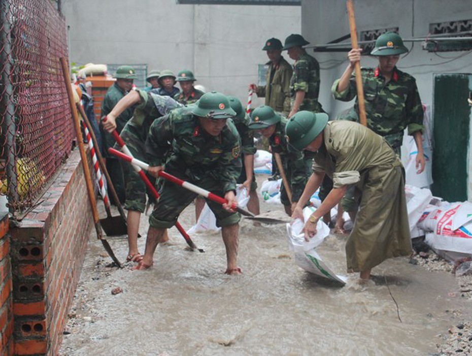
[[[0,218],[0,354],[13,355],[13,297],[8,214]]]

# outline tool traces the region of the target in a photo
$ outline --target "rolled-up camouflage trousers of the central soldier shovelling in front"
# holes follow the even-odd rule
[[[219,188],[219,182],[210,177],[209,175],[201,177],[198,182],[195,182],[192,178],[183,172],[182,168],[175,167],[172,164],[167,164],[165,171],[172,174],[184,181],[195,184],[206,190],[210,190],[212,193],[223,197],[224,192]],[[149,225],[153,228],[168,229],[175,225],[177,218],[180,213],[197,197],[197,194],[183,188],[177,184],[169,181],[159,179],[158,185],[159,200],[155,205],[154,211],[149,216]],[[218,187],[218,188],[215,188]],[[205,199],[208,206],[216,216],[217,226],[227,226],[238,223],[241,219],[239,213],[231,213],[223,209],[221,204],[214,203],[209,199]]]

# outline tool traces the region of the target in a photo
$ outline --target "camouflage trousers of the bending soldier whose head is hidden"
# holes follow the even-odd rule
[[[146,150],[144,148],[143,133],[140,126],[135,126],[128,122],[121,131],[121,138],[128,147],[134,158],[146,161]],[[116,148],[116,147],[115,147]],[[126,187],[126,200],[124,208],[126,210],[139,211],[144,213],[146,207],[146,193],[151,203],[155,203],[154,196],[144,184],[138,172],[134,170],[130,163],[122,162],[123,176]],[[156,178],[146,175],[155,185]]]

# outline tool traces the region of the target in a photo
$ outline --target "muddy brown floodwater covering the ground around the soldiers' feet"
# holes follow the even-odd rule
[[[193,205],[179,221],[190,228]],[[143,217],[141,252],[147,224]],[[175,229],[170,237],[151,269],[130,271],[131,264],[107,267],[111,260],[92,232],[61,355],[428,355],[470,309],[452,274],[408,258],[384,262],[373,269],[375,282],[360,284],[345,273],[347,236],[330,235],[317,248],[348,277],[345,286],[295,265],[285,225],[242,220],[241,276],[223,273],[219,233],[192,236],[204,253],[188,251]],[[125,237],[109,241],[124,261]],[[116,287],[123,293],[112,295]]]

